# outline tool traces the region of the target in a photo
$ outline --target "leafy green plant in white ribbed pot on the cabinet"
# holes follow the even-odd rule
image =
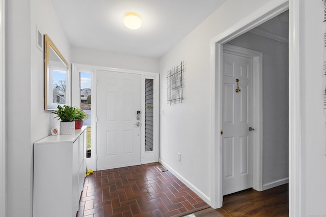
[[[52,111],[52,114],[56,114],[60,122],[60,134],[74,134],[75,133],[75,118],[77,116],[76,110],[72,106],[64,105],[61,107],[58,105],[58,110]],[[56,118],[54,117],[54,118]]]

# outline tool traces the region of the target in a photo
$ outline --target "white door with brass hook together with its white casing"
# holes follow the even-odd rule
[[[261,160],[261,63],[261,52],[224,45],[221,108],[223,195],[260,188],[253,180],[261,176],[260,164],[257,163]],[[253,165],[257,168],[254,169]]]

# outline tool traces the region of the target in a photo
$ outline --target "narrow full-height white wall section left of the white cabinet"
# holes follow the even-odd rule
[[[30,2],[6,1],[7,214],[32,214]],[[18,209],[19,207],[19,209]]]

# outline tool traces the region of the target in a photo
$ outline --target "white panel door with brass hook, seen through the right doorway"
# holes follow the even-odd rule
[[[223,195],[253,187],[252,111],[253,59],[224,52]]]

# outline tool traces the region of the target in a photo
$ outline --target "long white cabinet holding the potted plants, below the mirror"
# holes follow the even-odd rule
[[[34,143],[34,217],[76,216],[86,174],[86,128]]]

